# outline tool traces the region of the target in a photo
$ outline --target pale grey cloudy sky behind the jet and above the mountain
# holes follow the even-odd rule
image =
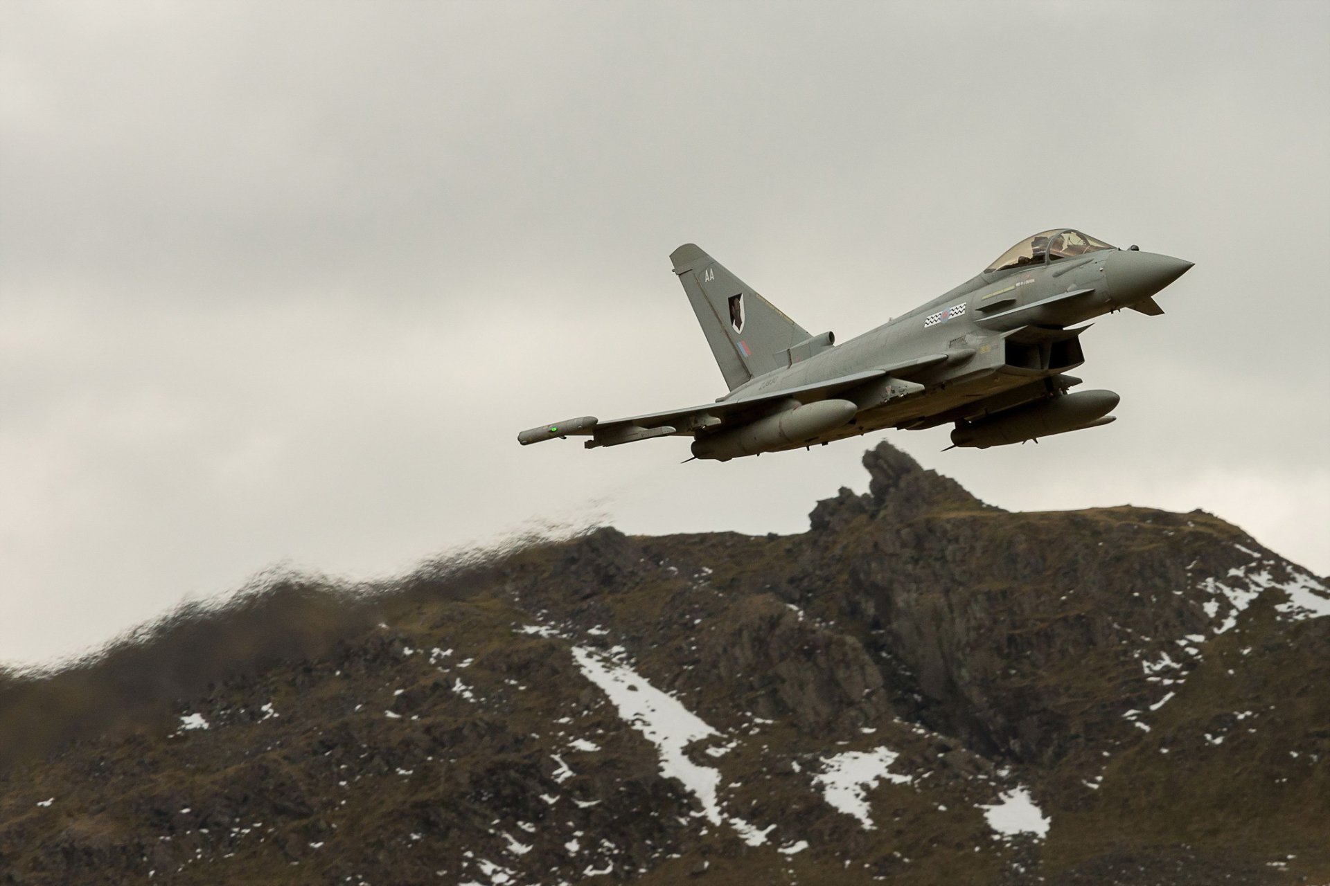
[[[864,442],[515,442],[724,393],[688,240],[841,339],[1059,224],[1196,262],[1083,340],[1116,424],[888,438],[1330,573],[1327,45],[1323,3],[0,0],[0,662],[274,565],[801,531]]]

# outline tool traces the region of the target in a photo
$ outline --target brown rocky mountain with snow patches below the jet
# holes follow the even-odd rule
[[[1330,586],[887,444],[790,537],[285,576],[0,680],[0,883],[1330,883]]]

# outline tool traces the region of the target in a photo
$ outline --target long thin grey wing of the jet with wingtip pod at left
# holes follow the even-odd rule
[[[829,381],[799,385],[797,388],[781,388],[778,391],[763,391],[751,396],[739,396],[734,400],[718,400],[700,406],[686,406],[684,409],[670,409],[666,412],[649,412],[642,416],[629,418],[613,418],[600,421],[593,416],[583,416],[569,421],[560,421],[552,425],[541,425],[517,434],[517,442],[527,446],[533,442],[553,440],[555,437],[592,437],[585,446],[618,446],[625,442],[650,440],[653,437],[668,437],[672,434],[692,434],[702,428],[713,428],[722,424],[741,424],[743,417],[770,404],[774,400],[806,400],[809,402],[821,400],[827,395],[847,388],[855,388],[866,381],[886,376],[888,369],[870,369],[839,376]]]

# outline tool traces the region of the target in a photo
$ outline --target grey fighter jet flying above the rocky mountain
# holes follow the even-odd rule
[[[729,393],[714,402],[629,418],[592,416],[517,434],[528,445],[589,437],[588,449],[693,437],[696,458],[826,445],[882,428],[952,422],[954,446],[987,449],[1113,421],[1112,391],[1069,393],[1085,361],[1087,320],[1130,308],[1164,313],[1154,295],[1192,267],[1121,250],[1071,228],[1027,236],[975,278],[835,343],[810,335],[693,243],[670,254]]]

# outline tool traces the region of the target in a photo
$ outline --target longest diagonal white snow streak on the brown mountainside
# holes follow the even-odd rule
[[[766,834],[774,825],[758,830],[742,818],[725,817],[717,798],[720,770],[698,765],[684,753],[694,741],[717,735],[716,729],[685,708],[678,699],[657,689],[626,664],[609,660],[585,646],[573,647],[573,660],[583,675],[609,696],[618,716],[656,745],[661,774],[680,781],[697,797],[708,821],[713,825],[728,821],[750,846],[766,842]]]

